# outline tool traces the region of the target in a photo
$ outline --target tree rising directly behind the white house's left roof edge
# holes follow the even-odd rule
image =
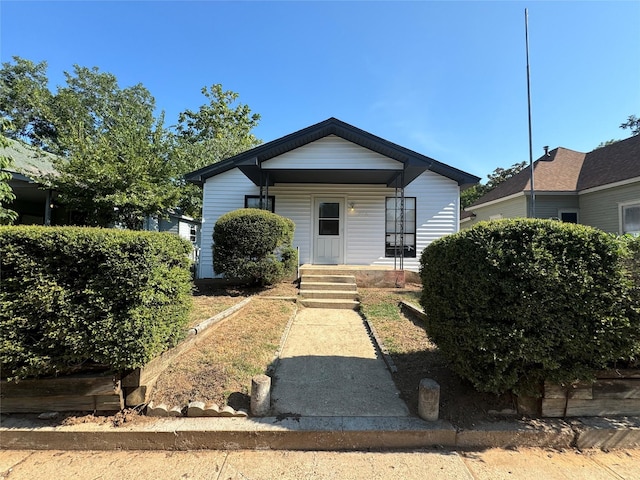
[[[185,110],[178,117],[173,136],[173,159],[185,174],[244,152],[261,143],[251,130],[260,115],[238,102],[239,95],[215,84],[202,89],[208,100],[197,111]],[[200,217],[202,191],[194,185],[182,185],[180,200],[184,213]]]

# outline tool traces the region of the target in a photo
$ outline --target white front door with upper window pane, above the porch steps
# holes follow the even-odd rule
[[[340,198],[316,198],[313,263],[338,265],[344,263],[343,231],[344,200]]]

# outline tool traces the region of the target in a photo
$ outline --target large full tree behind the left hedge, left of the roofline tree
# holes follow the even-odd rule
[[[74,67],[53,98],[60,155],[52,177],[61,200],[93,225],[141,228],[147,215],[174,207],[178,175],[171,162],[163,116],[141,84],[120,88],[115,76]]]

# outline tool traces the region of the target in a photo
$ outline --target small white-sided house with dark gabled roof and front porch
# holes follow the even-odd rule
[[[300,263],[417,271],[430,242],[458,231],[460,188],[479,181],[335,118],[186,179],[203,186],[200,278],[216,276],[217,219],[260,206],[295,222]]]

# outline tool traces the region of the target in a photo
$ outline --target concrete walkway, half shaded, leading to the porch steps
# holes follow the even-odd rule
[[[302,309],[272,385],[276,415],[407,417],[409,410],[353,310]]]

